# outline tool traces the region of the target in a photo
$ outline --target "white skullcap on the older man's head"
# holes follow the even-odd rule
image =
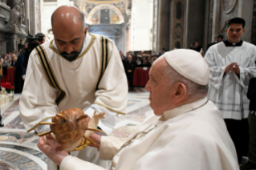
[[[185,78],[201,85],[209,82],[209,67],[200,53],[179,49],[165,52],[165,60],[175,71]]]

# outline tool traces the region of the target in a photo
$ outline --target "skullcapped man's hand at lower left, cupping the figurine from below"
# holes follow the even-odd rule
[[[65,151],[62,146],[51,136],[47,135],[47,141],[45,141],[44,136],[39,138],[38,147],[44,152],[55,164],[60,165],[62,160],[68,156],[68,152]]]

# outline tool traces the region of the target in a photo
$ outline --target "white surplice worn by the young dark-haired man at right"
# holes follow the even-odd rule
[[[207,97],[216,104],[225,119],[245,119],[249,113],[246,97],[250,78],[256,76],[256,47],[242,42],[241,47],[226,47],[224,42],[209,48],[205,55],[209,65],[210,79]],[[229,71],[230,63],[238,63],[240,78]]]

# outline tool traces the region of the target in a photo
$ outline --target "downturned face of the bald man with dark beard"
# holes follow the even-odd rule
[[[87,29],[82,31],[82,27],[82,24],[79,26],[58,26],[57,24],[52,26],[59,54],[70,62],[77,59],[82,51],[87,33]]]

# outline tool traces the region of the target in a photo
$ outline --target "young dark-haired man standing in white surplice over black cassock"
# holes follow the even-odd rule
[[[207,96],[225,119],[238,162],[248,151],[249,99],[246,92],[250,79],[256,76],[256,47],[241,39],[245,24],[242,18],[230,19],[226,29],[228,40],[210,47],[205,55],[210,69]]]

